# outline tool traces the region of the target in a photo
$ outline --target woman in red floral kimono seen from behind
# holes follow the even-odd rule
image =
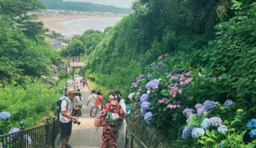
[[[104,105],[100,113],[100,120],[103,124],[102,148],[117,148],[117,127],[123,122],[125,112],[115,101],[115,93],[108,94],[109,103]]]

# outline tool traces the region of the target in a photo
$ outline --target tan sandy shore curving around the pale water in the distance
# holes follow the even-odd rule
[[[120,19],[121,15],[47,15],[47,16],[38,16],[38,22],[44,23],[44,28],[48,28],[50,31],[59,31],[63,30],[69,32],[69,26],[65,26],[63,22],[71,20],[86,20],[86,19]]]

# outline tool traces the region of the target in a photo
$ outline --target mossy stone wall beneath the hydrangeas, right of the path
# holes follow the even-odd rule
[[[148,125],[143,119],[135,118],[136,114],[140,114],[140,107],[135,104],[131,105],[131,113],[127,118],[127,128],[134,133],[149,148],[165,148],[170,147],[170,141],[164,139],[154,126]]]

